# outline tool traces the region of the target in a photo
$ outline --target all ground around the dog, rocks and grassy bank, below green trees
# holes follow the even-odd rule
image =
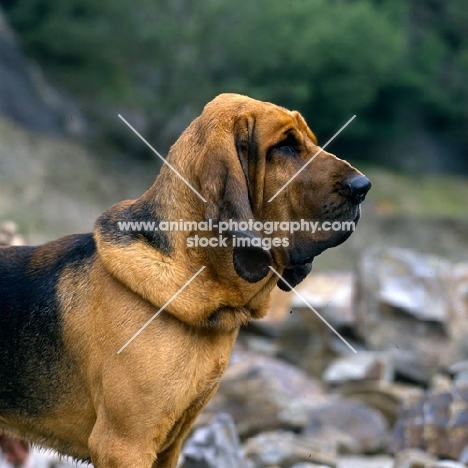
[[[153,182],[154,162],[85,148],[96,131],[0,12],[0,221],[24,234],[4,221],[0,246],[88,232]],[[468,466],[468,184],[365,172],[358,232],[242,331],[179,468]],[[68,466],[33,451],[30,468]]]

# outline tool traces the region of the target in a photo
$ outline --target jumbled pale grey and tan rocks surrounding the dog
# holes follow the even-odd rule
[[[179,468],[468,466],[468,264],[374,248],[297,291],[242,331]]]

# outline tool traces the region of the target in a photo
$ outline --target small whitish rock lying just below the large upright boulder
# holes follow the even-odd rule
[[[322,376],[329,385],[364,380],[393,380],[393,365],[384,353],[365,352],[335,359]]]

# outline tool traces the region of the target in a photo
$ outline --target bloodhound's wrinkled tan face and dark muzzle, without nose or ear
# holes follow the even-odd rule
[[[265,160],[265,171],[263,193],[254,196],[261,199],[256,204],[255,217],[263,221],[318,223],[315,232],[277,230],[269,235],[288,237],[289,246],[274,249],[272,255],[279,264],[292,268],[310,263],[313,257],[341,244],[352,234],[346,227],[326,231],[322,223],[328,221],[327,227],[333,222],[336,227],[336,221],[357,223],[360,204],[349,196],[345,183],[362,174],[348,162],[322,151],[299,113],[276,106],[270,111],[276,115],[260,114],[255,122],[257,135],[270,135],[257,143],[258,157]],[[258,188],[258,184],[251,186]]]

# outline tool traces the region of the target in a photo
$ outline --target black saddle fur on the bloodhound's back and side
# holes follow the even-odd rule
[[[0,422],[21,424],[60,399],[66,352],[57,284],[94,253],[91,234],[0,249]]]

